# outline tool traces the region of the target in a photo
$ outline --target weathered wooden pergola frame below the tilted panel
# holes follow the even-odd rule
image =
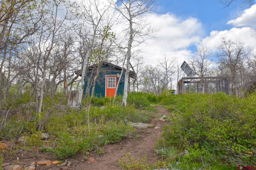
[[[216,87],[214,92],[225,92],[229,94],[229,80],[227,77],[182,77],[178,81],[178,94],[186,93],[185,84],[196,84],[196,92],[199,92],[199,85],[205,88],[209,83],[213,83]],[[200,87],[200,88],[201,88]],[[202,89],[201,89],[202,90]],[[207,90],[206,90],[207,92]],[[204,93],[204,91],[203,91]]]

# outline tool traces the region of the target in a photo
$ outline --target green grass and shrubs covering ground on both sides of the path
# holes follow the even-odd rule
[[[35,113],[33,106],[21,107],[26,99],[18,100],[15,107],[2,110],[0,115],[0,140],[23,140],[18,146],[20,149],[53,152],[63,160],[78,152],[93,152],[133,133],[134,128],[125,125],[125,119],[150,121],[154,111],[152,104],[157,104],[171,112],[166,120],[172,122],[164,127],[156,147],[156,155],[162,161],[146,165],[142,158],[130,163],[121,161],[121,166],[129,163],[131,167],[140,164],[144,169],[182,170],[256,166],[255,94],[237,98],[224,93],[163,94],[158,97],[135,93],[128,96],[126,108],[120,105],[121,96],[115,102],[112,98],[91,98],[83,101],[83,106],[87,107],[79,112],[66,107],[63,102],[66,99],[55,96],[46,98],[44,111],[40,114]],[[47,142],[42,140],[42,133],[50,135]],[[1,150],[0,164],[4,153],[6,151]]]

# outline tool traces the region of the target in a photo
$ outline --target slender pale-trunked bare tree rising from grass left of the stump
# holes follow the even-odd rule
[[[65,5],[63,0],[42,0],[41,5],[36,6],[37,8],[34,10],[38,12],[37,14],[41,18],[37,23],[40,25],[40,29],[29,37],[27,45],[24,45],[21,52],[21,54],[23,53],[20,56],[21,66],[24,68],[21,73],[36,91],[38,113],[42,112],[45,86],[51,84],[50,78],[54,76],[52,74],[53,69],[50,68],[57,68],[50,59],[56,58],[53,57],[56,55],[54,50],[58,48],[57,44],[61,35],[67,30],[63,29],[68,22],[68,9]],[[59,15],[60,12],[61,15]]]

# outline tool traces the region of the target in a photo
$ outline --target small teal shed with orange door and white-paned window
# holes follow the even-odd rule
[[[99,75],[96,79],[94,95],[97,97],[110,97],[114,96],[115,90],[117,87],[118,80],[120,80],[120,84],[118,86],[118,94],[124,94],[124,74],[126,69],[124,69],[123,74],[121,75],[122,67],[117,66],[112,63],[108,63],[106,61],[100,64],[93,64],[88,66],[86,69],[86,74],[84,77],[84,95],[89,94],[92,95],[92,86],[94,77],[96,75],[97,69],[99,67]],[[130,70],[129,73],[129,84],[128,84],[128,92],[130,91],[130,78],[136,79],[136,74],[134,71]]]

